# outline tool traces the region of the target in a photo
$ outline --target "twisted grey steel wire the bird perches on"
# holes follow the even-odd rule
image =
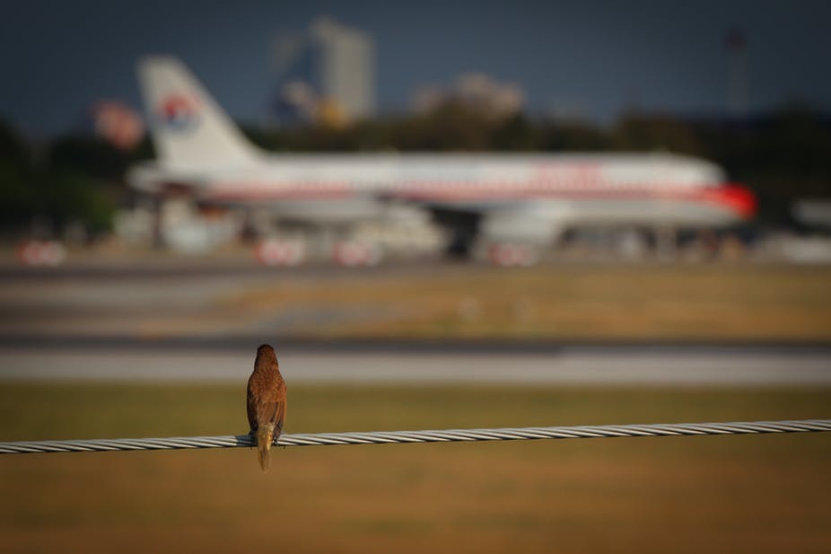
[[[278,446],[326,444],[450,443],[459,441],[513,441],[615,436],[745,435],[831,431],[831,419],[739,421],[731,423],[673,423],[638,425],[504,427],[443,429],[436,431],[374,431],[364,433],[299,433],[281,435]],[[254,446],[250,435],[174,436],[71,441],[0,442],[0,453],[108,452],[177,450],[183,448],[237,448]]]

